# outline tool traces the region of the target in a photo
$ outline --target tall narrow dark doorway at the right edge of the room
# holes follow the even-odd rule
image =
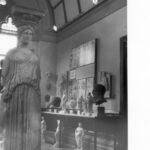
[[[127,66],[127,36],[120,38],[120,115],[121,115],[121,141],[122,150],[127,150],[128,130],[128,66]]]

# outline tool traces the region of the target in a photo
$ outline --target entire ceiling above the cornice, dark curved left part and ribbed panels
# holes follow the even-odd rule
[[[99,3],[104,1],[108,0],[98,0]],[[8,11],[12,5],[43,12],[47,28],[52,29],[56,25],[58,30],[95,6],[92,0],[7,0],[7,3],[8,7],[0,7],[3,9],[0,12]]]

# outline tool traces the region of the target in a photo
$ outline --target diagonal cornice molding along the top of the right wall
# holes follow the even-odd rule
[[[95,22],[107,17],[113,12],[125,7],[127,0],[107,0],[105,3],[98,5],[87,13],[81,15],[73,22],[64,26],[56,33],[56,42],[60,42],[73,34],[85,29],[86,27],[94,24]]]

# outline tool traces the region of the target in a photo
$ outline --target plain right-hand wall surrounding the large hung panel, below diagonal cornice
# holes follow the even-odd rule
[[[72,48],[89,40],[97,38],[98,42],[98,68],[113,76],[113,95],[103,104],[106,112],[119,112],[120,109],[120,37],[127,35],[127,8],[123,7],[113,14],[92,24],[84,30],[57,43],[57,96],[60,96],[60,83],[62,75],[69,70],[69,58]],[[43,54],[46,55],[46,54]]]

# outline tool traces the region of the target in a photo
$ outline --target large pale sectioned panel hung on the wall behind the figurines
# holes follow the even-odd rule
[[[87,41],[70,52],[70,70],[69,70],[69,86],[70,95],[75,95],[77,91],[77,99],[81,96],[87,97],[91,93],[96,82],[97,72],[97,40]],[[77,82],[73,82],[77,81]],[[73,88],[73,87],[78,87]],[[73,90],[74,89],[74,90]]]

